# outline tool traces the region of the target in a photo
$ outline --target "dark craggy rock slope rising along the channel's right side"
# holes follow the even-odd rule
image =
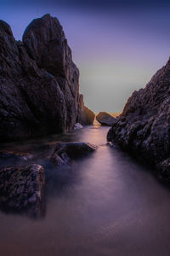
[[[170,60],[133,92],[107,137],[170,183]]]

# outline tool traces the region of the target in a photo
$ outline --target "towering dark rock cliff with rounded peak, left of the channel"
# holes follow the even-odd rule
[[[37,137],[92,124],[79,71],[57,18],[32,20],[22,42],[0,20],[0,139]]]

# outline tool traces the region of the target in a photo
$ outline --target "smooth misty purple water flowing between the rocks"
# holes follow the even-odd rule
[[[107,131],[88,126],[65,137],[22,145],[23,150],[34,148],[43,166],[44,143],[83,141],[99,149],[75,162],[70,172],[47,167],[43,218],[0,212],[0,255],[170,255],[170,190],[146,168],[106,145]],[[37,150],[38,143],[42,146]],[[53,151],[49,148],[43,154]]]

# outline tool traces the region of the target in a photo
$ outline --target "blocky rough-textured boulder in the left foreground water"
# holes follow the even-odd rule
[[[8,167],[0,170],[0,206],[6,211],[42,213],[45,176],[42,166]]]

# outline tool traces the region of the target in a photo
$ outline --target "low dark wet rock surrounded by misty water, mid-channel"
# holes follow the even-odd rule
[[[65,167],[70,165],[71,160],[86,156],[96,149],[97,146],[91,143],[58,143],[51,156],[51,161],[57,167]]]

